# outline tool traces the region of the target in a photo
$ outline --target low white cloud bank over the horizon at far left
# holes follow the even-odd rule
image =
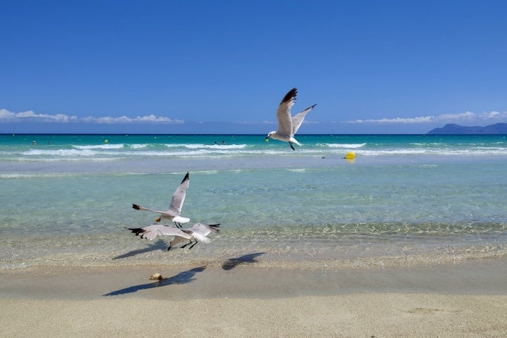
[[[173,120],[165,116],[144,115],[129,118],[128,116],[112,117],[102,116],[96,118],[94,116],[87,116],[80,118],[75,115],[65,114],[36,114],[33,111],[23,111],[21,113],[13,113],[6,109],[0,109],[0,122],[15,123],[15,122],[54,122],[54,123],[96,123],[96,124],[127,124],[127,123],[184,123],[183,120]]]

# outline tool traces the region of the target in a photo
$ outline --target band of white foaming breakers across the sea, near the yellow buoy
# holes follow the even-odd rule
[[[376,146],[357,144],[317,144],[301,146],[289,151],[284,144],[260,146],[248,144],[104,144],[72,146],[69,149],[34,148],[29,150],[3,151],[1,161],[110,161],[113,159],[135,158],[263,158],[277,156],[284,158],[308,158],[332,156],[343,157],[347,149],[353,149],[357,156],[506,156],[507,147],[502,146]]]

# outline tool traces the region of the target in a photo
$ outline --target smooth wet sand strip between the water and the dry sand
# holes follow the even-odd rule
[[[150,280],[154,273],[160,273],[163,280]],[[368,292],[507,295],[506,280],[507,263],[503,257],[456,264],[329,269],[272,268],[258,264],[254,258],[230,261],[221,266],[206,263],[55,265],[3,270],[0,299],[87,300],[106,294],[160,298],[164,292],[157,290],[171,286],[178,289],[176,296],[184,299],[194,296],[289,297],[294,294],[327,296]],[[194,289],[199,289],[199,294]]]

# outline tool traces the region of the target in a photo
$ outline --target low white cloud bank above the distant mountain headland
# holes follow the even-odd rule
[[[491,111],[487,113],[473,113],[466,111],[465,113],[457,114],[442,114],[442,115],[427,115],[417,116],[414,118],[380,118],[368,120],[349,120],[344,123],[400,123],[400,124],[415,124],[415,123],[496,123],[507,120],[507,111],[500,113],[498,111]]]

